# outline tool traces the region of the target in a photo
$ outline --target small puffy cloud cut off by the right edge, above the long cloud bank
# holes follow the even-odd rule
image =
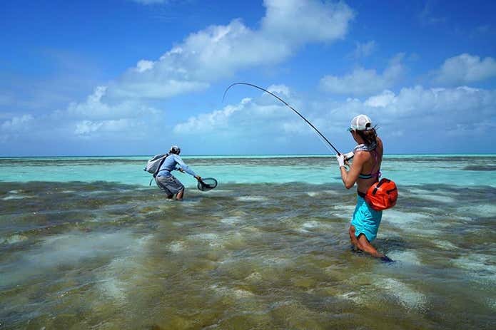
[[[481,60],[467,53],[448,58],[434,73],[435,83],[456,85],[474,83],[496,77],[496,61],[492,57]]]

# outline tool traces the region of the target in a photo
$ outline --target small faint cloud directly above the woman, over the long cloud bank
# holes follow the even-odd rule
[[[355,68],[345,76],[324,76],[320,79],[320,88],[336,94],[350,94],[354,96],[370,95],[391,88],[403,75],[405,68],[401,63],[403,54],[395,56],[382,74],[375,69]]]

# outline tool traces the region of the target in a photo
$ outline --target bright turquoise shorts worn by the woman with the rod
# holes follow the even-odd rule
[[[364,234],[368,242],[372,242],[377,237],[380,220],[383,218],[383,211],[376,211],[370,207],[363,197],[357,196],[357,206],[353,212],[351,225],[355,227],[355,236]]]

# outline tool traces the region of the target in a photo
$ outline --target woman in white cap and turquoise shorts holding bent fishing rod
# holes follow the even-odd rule
[[[348,129],[358,143],[352,153],[336,155],[338,158],[341,179],[346,189],[357,184],[357,205],[350,225],[351,243],[358,249],[371,254],[373,257],[390,260],[378,252],[370,244],[375,237],[383,217],[383,211],[376,211],[365,202],[368,188],[380,177],[380,164],[383,161],[383,141],[377,136],[372,120],[367,115],[357,115],[351,120]],[[350,170],[347,171],[345,162],[353,157]]]

